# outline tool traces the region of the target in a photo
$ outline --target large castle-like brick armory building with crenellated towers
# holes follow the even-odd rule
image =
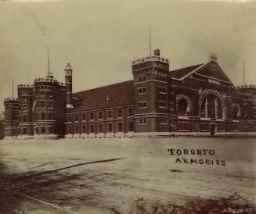
[[[170,71],[155,50],[132,62],[132,80],[77,93],[69,64],[65,73],[65,85],[51,76],[18,86],[18,101],[5,101],[5,136],[256,135],[256,86],[235,87],[215,55]]]

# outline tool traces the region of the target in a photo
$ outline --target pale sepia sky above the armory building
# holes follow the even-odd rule
[[[132,60],[152,49],[170,70],[218,63],[235,85],[256,84],[256,1],[169,0],[0,1],[0,111],[14,84],[45,77],[64,82],[73,67],[74,92],[132,80]],[[17,92],[15,90],[15,97]]]

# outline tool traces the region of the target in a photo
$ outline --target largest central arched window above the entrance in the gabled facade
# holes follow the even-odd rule
[[[222,119],[222,103],[214,94],[208,94],[200,107],[200,117]]]

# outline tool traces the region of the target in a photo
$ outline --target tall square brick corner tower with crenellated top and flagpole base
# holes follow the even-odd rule
[[[135,85],[136,132],[168,132],[168,73],[169,60],[153,56],[132,62]]]

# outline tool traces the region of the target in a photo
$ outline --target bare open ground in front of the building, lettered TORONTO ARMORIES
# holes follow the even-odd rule
[[[0,213],[247,213],[255,152],[254,138],[0,141]]]

